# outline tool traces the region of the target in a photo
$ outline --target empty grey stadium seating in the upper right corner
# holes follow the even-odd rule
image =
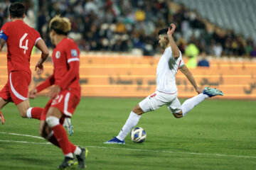
[[[256,41],[255,0],[174,0],[220,28],[235,30]]]

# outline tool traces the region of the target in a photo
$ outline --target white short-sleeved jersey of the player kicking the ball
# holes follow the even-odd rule
[[[175,60],[171,47],[166,48],[156,68],[156,90],[166,94],[176,93],[176,73],[183,65],[181,52],[178,59]]]

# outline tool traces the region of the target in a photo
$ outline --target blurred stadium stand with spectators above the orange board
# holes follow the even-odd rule
[[[8,21],[10,2],[0,3],[0,26]],[[156,55],[161,52],[158,30],[173,22],[181,52],[193,43],[207,55],[255,57],[256,20],[250,14],[256,5],[253,0],[39,0],[36,18],[31,2],[24,1],[27,21],[37,26],[49,47],[47,23],[60,14],[72,21],[70,37],[82,51]],[[178,4],[177,11],[174,4]],[[215,29],[209,30],[207,22],[213,23]]]

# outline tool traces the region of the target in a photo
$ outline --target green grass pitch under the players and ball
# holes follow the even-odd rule
[[[164,106],[139,121],[137,126],[147,132],[144,143],[127,137],[125,145],[103,144],[118,134],[141,99],[82,98],[70,141],[89,149],[87,169],[256,169],[255,101],[208,99],[181,119]],[[31,106],[43,107],[47,101],[38,97]],[[21,118],[13,103],[2,111],[0,169],[56,169],[63,154],[33,137],[38,136],[38,120]]]

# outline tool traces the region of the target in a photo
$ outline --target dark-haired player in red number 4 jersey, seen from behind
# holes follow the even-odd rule
[[[49,54],[40,34],[23,22],[25,7],[21,3],[9,7],[11,22],[5,23],[0,30],[0,51],[7,45],[8,81],[0,91],[0,110],[7,103],[14,102],[22,118],[40,119],[43,108],[31,108],[28,101],[28,85],[31,82],[30,59],[35,45],[41,50],[41,59],[35,70],[43,72],[43,62]],[[0,111],[4,124],[4,115]]]

